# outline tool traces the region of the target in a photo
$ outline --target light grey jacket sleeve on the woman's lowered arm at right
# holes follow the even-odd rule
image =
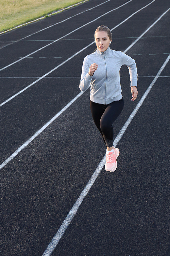
[[[137,80],[138,80],[138,74],[137,74],[137,67],[136,67],[136,62],[134,59],[132,59],[130,56],[122,53],[123,57],[123,65],[126,65],[129,69],[129,74],[130,74],[130,81],[131,81],[131,86],[136,86],[137,87]]]

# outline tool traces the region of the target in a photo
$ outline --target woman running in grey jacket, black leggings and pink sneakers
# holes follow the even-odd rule
[[[91,114],[107,147],[105,169],[114,172],[119,149],[113,147],[112,125],[124,105],[119,75],[122,65],[129,68],[132,101],[137,98],[138,91],[135,60],[120,51],[111,50],[111,42],[111,30],[106,26],[98,27],[95,31],[97,51],[84,58],[79,88],[85,91],[91,85]]]

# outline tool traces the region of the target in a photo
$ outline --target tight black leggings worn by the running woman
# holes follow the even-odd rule
[[[113,146],[113,123],[120,115],[124,106],[123,98],[113,101],[108,105],[90,101],[90,110],[95,125],[102,134],[103,141],[107,147]]]

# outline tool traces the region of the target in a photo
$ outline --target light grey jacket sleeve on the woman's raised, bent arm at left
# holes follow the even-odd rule
[[[92,77],[91,75],[89,75],[88,71],[89,71],[89,64],[88,64],[88,60],[85,57],[84,61],[83,61],[83,66],[82,66],[82,75],[81,75],[81,80],[80,80],[80,84],[79,84],[79,88],[81,91],[85,91],[89,88]]]

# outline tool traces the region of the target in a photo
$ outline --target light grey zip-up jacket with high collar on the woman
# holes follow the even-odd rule
[[[98,68],[90,76],[88,71],[93,63],[97,63]],[[122,65],[126,65],[129,68],[131,86],[137,87],[135,60],[120,51],[114,51],[108,47],[105,52],[100,52],[97,49],[95,53],[84,58],[79,88],[85,91],[91,85],[90,100],[96,103],[109,104],[120,100],[122,98],[122,90],[119,71]]]

